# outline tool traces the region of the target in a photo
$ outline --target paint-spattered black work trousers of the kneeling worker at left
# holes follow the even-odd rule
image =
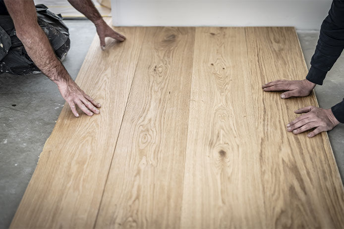
[[[0,0],[1,8],[2,4],[3,0]],[[67,26],[62,22],[60,15],[52,13],[43,4],[36,5],[36,11],[38,24],[47,35],[57,57],[63,60],[70,47]],[[1,12],[4,10],[1,9]],[[0,14],[0,74],[27,75],[40,72],[16,36],[14,24],[8,12],[7,15]]]

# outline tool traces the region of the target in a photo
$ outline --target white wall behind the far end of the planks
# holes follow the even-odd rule
[[[318,30],[332,0],[112,0],[115,26],[294,26]]]

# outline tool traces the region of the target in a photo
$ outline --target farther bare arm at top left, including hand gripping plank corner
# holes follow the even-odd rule
[[[96,26],[102,49],[105,48],[106,37],[114,38],[115,40],[120,42],[125,40],[125,37],[123,35],[115,32],[110,26],[108,26],[108,24],[106,24],[91,0],[68,1],[75,9],[84,14]]]

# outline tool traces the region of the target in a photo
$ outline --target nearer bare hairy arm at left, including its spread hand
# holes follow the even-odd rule
[[[77,104],[87,115],[99,113],[100,104],[85,94],[71,79],[67,70],[57,59],[50,42],[37,23],[37,13],[33,0],[4,0],[14,22],[16,35],[36,66],[57,84],[63,98],[68,102],[75,116]]]

